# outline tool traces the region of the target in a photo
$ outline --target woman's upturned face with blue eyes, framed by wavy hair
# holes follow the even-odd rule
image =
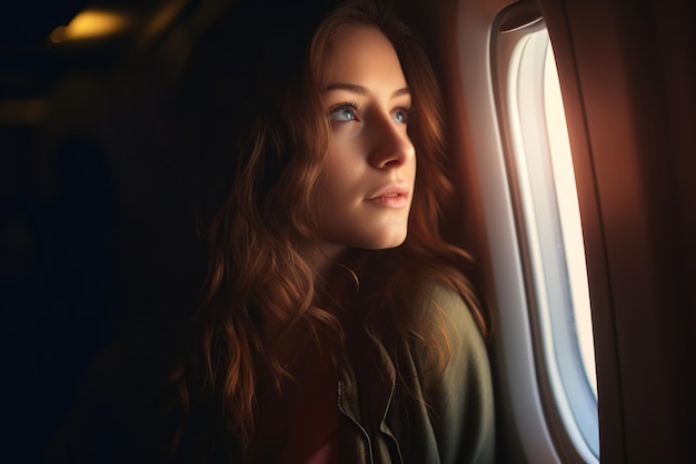
[[[316,190],[322,249],[396,247],[406,239],[416,178],[399,59],[377,28],[354,26],[335,40],[328,82],[331,138]]]

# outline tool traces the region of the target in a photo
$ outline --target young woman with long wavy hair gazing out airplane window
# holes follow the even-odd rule
[[[130,451],[115,461],[494,461],[489,328],[468,255],[438,231],[453,188],[434,72],[372,1],[319,10],[292,26],[310,34],[269,40],[300,59],[259,48],[256,86],[274,85],[230,129],[207,296],[176,338],[171,395],[130,406],[159,418],[116,413]]]

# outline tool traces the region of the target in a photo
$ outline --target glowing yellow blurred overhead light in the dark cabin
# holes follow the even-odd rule
[[[126,14],[87,9],[78,13],[68,26],[59,26],[53,29],[50,39],[53,43],[100,39],[122,32],[128,28],[129,22]]]

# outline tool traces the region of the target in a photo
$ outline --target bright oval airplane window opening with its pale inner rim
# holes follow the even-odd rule
[[[587,269],[554,51],[540,18],[499,36],[494,57],[499,119],[541,401],[549,426],[563,430],[580,461],[597,462]]]

